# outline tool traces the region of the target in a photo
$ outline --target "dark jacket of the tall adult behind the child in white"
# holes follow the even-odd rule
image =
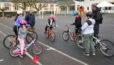
[[[102,14],[100,13],[101,9],[100,8],[96,8],[96,10],[92,11],[93,12],[93,19],[95,19],[96,24],[101,24],[103,17]]]

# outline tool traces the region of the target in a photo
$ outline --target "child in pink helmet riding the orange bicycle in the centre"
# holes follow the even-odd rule
[[[48,19],[48,23],[45,27],[45,33],[47,32],[47,28],[52,29],[54,26],[56,26],[56,23],[55,23],[54,15],[51,14],[49,19]]]

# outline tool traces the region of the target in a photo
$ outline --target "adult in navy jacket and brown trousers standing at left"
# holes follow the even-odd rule
[[[34,26],[35,26],[35,15],[33,14],[34,11],[30,10],[30,12],[25,16],[25,20],[27,21],[27,24],[30,25],[30,28],[32,31],[34,31]]]

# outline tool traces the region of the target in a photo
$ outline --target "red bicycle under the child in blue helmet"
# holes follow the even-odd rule
[[[67,30],[63,32],[63,40],[68,41],[70,38],[72,41],[74,41],[76,46],[84,49],[84,47],[82,45],[82,40],[83,40],[82,35],[79,33],[75,34],[75,32],[72,31],[68,25],[65,25],[65,26],[67,27]],[[74,30],[74,28],[73,28],[73,30]]]

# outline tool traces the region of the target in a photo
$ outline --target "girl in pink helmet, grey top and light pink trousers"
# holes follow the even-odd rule
[[[19,28],[19,32],[18,32],[18,40],[20,42],[20,47],[21,47],[20,49],[21,49],[22,57],[23,57],[23,51],[26,50],[25,49],[25,37],[27,35],[26,24],[27,24],[27,22],[25,20],[21,20],[20,28]]]

